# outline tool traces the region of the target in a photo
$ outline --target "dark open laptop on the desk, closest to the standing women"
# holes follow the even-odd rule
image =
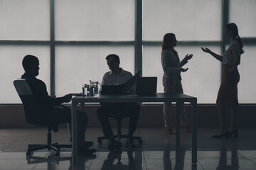
[[[136,94],[152,95],[156,94],[157,77],[139,77],[136,83]]]

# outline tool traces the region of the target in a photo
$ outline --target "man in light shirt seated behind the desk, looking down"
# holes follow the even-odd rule
[[[119,67],[120,60],[118,55],[108,55],[106,57],[107,65],[110,72],[104,74],[102,85],[118,85],[124,84],[132,78],[132,73],[125,71]],[[131,89],[132,92],[132,89]],[[101,107],[97,109],[97,118],[100,120],[103,133],[110,140],[108,148],[120,149],[122,143],[114,139],[110,120],[108,118],[129,117],[129,132],[127,138],[127,146],[134,147],[133,133],[137,128],[139,118],[138,103],[101,103]]]

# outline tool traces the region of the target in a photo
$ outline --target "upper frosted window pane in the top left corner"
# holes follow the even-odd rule
[[[1,0],[0,40],[50,40],[46,0]]]

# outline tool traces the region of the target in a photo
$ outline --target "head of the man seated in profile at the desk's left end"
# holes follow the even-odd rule
[[[39,74],[39,60],[36,56],[26,55],[22,60],[22,66],[26,73],[34,77]]]

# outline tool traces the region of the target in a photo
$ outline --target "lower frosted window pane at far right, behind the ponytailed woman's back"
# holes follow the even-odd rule
[[[239,103],[256,103],[256,46],[246,45],[245,53],[241,55],[241,64],[238,66],[240,81],[238,83]]]

